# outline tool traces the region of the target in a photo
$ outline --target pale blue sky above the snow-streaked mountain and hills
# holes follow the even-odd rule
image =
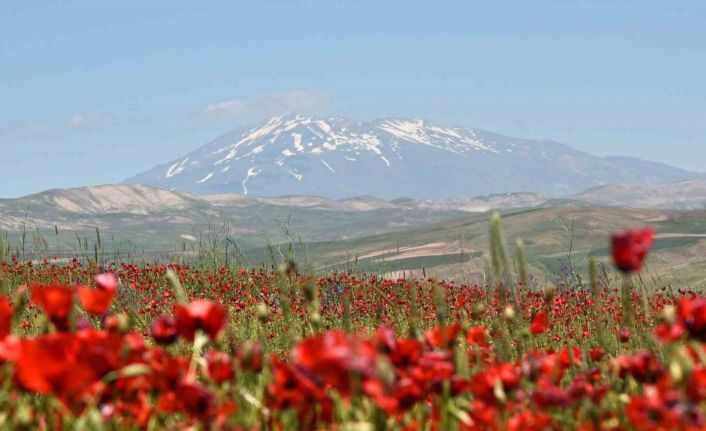
[[[0,197],[278,111],[424,117],[706,171],[706,2],[13,1]]]

